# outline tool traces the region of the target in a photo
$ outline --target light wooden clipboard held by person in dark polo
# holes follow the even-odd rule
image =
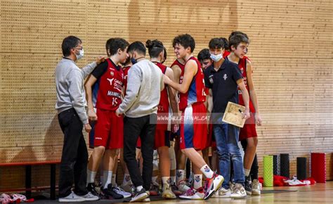
[[[229,101],[222,121],[237,127],[244,127],[245,119],[242,118],[242,113],[244,113],[244,111],[245,106]]]

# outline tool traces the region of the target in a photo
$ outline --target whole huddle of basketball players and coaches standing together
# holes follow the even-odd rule
[[[190,34],[178,35],[172,45],[176,57],[168,67],[159,40],[129,44],[111,38],[105,45],[107,58],[79,69],[75,62],[84,56],[81,40],[63,40],[64,57],[55,68],[55,108],[65,135],[60,202],[260,195],[256,125],[261,116],[246,56],[249,37],[233,32],[228,40],[213,38],[197,58]],[[245,106],[241,129],[222,121],[229,101]],[[83,127],[93,148],[90,158]],[[118,159],[124,172],[119,186]],[[185,177],[187,159],[190,179]]]

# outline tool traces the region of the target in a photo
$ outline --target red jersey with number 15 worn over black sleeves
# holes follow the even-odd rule
[[[107,69],[98,79],[96,108],[117,110],[122,103],[121,93],[124,84],[124,72],[107,59]]]

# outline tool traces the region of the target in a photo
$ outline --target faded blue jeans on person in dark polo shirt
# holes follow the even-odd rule
[[[229,189],[230,181],[230,159],[233,162],[234,180],[237,184],[244,186],[245,174],[238,147],[238,136],[240,129],[234,125],[226,123],[214,124],[214,136],[216,140],[216,148],[218,151],[218,160],[220,173],[224,177],[223,188]]]

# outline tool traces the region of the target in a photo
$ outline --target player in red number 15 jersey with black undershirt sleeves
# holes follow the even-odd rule
[[[115,110],[122,101],[124,72],[119,63],[124,63],[128,54],[129,43],[124,39],[112,38],[106,42],[107,60],[95,69],[86,82],[89,120],[96,121],[94,148],[88,164],[88,189],[96,193],[93,182],[103,158],[103,179],[101,186],[105,198],[120,199],[131,195],[120,193],[112,186],[112,170],[117,162],[119,149],[123,148],[123,121],[115,115]],[[95,97],[93,97],[95,96]],[[93,100],[96,100],[96,113],[93,110]],[[104,156],[103,156],[104,155]],[[116,173],[116,172],[115,172]],[[122,195],[124,194],[124,195]],[[125,195],[126,194],[126,195]]]

